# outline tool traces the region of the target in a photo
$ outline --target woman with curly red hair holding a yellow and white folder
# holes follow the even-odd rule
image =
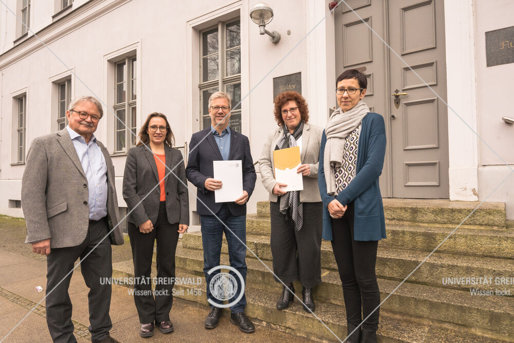
[[[274,115],[279,127],[269,133],[259,170],[269,192],[271,215],[271,254],[276,281],[286,284],[277,302],[283,310],[293,301],[292,282],[302,283],[304,310],[315,310],[312,288],[321,282],[322,203],[318,190],[318,157],[321,129],[307,123],[309,110],[297,92],[284,92],[274,101]],[[285,192],[286,184],[273,177],[273,151],[300,147],[303,190]],[[278,279],[279,280],[278,280]]]

